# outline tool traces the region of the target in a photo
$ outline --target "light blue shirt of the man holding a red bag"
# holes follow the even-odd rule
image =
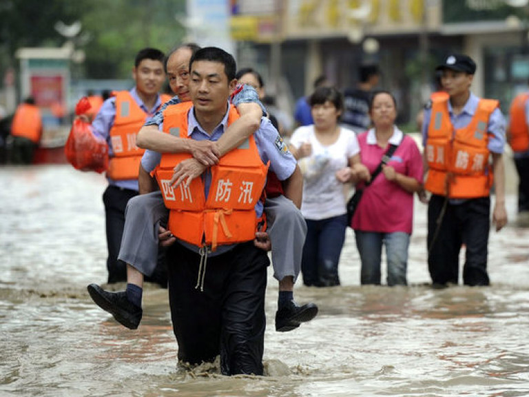
[[[147,114],[147,120],[151,119],[152,116],[158,111],[160,108],[160,105],[162,104],[160,96],[158,95],[158,98],[156,99],[156,103],[154,104],[152,109],[147,109],[147,106],[138,96],[138,92],[136,91],[136,88],[132,88],[132,90],[129,91],[132,99],[138,103],[138,106]],[[114,156],[114,149],[112,147],[112,139],[110,139],[110,130],[112,130],[112,126],[114,125],[114,120],[116,119],[116,97],[112,96],[111,98],[107,99],[103,105],[101,106],[101,109],[96,115],[96,118],[94,121],[92,121],[92,134],[97,136],[98,138],[104,139],[108,144],[108,151],[110,157]],[[130,190],[138,190],[138,180],[137,179],[127,179],[127,180],[119,180],[115,181],[113,179],[107,178],[109,185],[114,185],[116,187],[121,187],[123,189],[130,189]]]

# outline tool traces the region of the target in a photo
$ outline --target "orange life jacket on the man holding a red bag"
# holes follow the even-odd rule
[[[110,179],[138,179],[145,150],[136,146],[136,136],[146,120],[147,114],[128,91],[116,92],[116,118],[110,130],[114,156],[107,170]]]

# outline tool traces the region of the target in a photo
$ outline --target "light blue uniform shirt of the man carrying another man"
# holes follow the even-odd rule
[[[224,134],[228,124],[229,103],[226,103],[226,105],[227,112],[220,124],[216,126],[213,132],[211,132],[211,135],[205,132],[205,130],[200,126],[200,123],[198,123],[195,117],[194,108],[191,108],[187,116],[187,136],[191,137],[191,139],[194,139],[196,141],[218,141],[220,136]],[[260,128],[253,134],[253,138],[256,141],[257,149],[262,163],[267,164],[270,161],[270,170],[278,176],[278,179],[280,181],[284,181],[289,176],[291,176],[291,174],[293,174],[296,165],[295,158],[291,154],[291,152],[289,152],[287,146],[282,141],[278,130],[273,127],[272,123],[267,117],[262,117]],[[245,143],[243,143],[243,145],[244,144]],[[209,185],[211,184],[211,173],[209,172],[209,170],[205,172],[203,177],[205,184],[205,194],[207,197],[209,193]],[[262,211],[263,205],[260,201],[258,201],[258,203],[256,204],[257,216],[260,216],[262,214]],[[182,241],[180,241],[180,243],[182,243],[183,245],[185,245],[185,247],[194,252],[198,252],[199,250],[198,247],[196,247],[195,245],[190,245]],[[234,245],[222,245],[218,247],[218,249],[214,253],[211,253],[210,256],[223,254],[231,250],[231,248],[233,247]]]

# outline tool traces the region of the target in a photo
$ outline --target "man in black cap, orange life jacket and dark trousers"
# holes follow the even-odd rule
[[[489,285],[487,246],[490,188],[495,184],[492,223],[501,230],[505,209],[505,120],[498,101],[470,92],[476,64],[450,54],[442,71],[444,92],[432,97],[422,136],[427,163],[428,269],[434,286],[457,284],[459,251],[466,245],[465,285]],[[492,159],[492,163],[490,163]]]

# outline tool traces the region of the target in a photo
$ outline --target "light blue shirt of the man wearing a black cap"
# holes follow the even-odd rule
[[[470,123],[476,113],[478,103],[479,97],[470,92],[470,97],[466,101],[463,110],[456,115],[453,112],[450,101],[448,101],[448,114],[450,114],[450,122],[455,130],[465,128]],[[422,145],[424,147],[426,147],[426,141],[428,140],[428,127],[430,125],[431,113],[431,109],[426,109],[424,112],[424,123],[422,124]],[[505,119],[499,108],[490,114],[487,132],[488,150],[492,153],[503,153],[505,146]]]

